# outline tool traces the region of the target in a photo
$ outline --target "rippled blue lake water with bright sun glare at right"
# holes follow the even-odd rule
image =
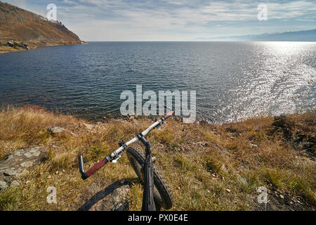
[[[119,115],[124,90],[197,91],[197,116],[232,122],[315,110],[316,42],[91,42],[0,55],[0,105]]]

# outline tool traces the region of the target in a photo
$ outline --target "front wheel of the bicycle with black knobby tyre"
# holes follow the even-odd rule
[[[145,164],[145,153],[138,148],[128,148],[126,153],[138,178],[144,182],[143,167]],[[152,170],[154,174],[154,201],[158,205],[161,205],[165,210],[169,210],[172,207],[172,194],[170,188],[157,167],[153,165]]]

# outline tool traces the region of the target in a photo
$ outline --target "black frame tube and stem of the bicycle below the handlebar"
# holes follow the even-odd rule
[[[150,143],[146,141],[142,134],[138,134],[138,139],[145,145],[145,165],[143,169],[144,179],[144,193],[143,193],[143,205],[142,211],[156,211],[156,205],[154,203],[154,173],[152,162],[152,150],[150,149]]]

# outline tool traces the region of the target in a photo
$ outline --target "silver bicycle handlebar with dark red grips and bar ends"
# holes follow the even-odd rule
[[[143,136],[146,136],[152,129],[159,127],[162,122],[164,122],[164,120],[168,119],[169,117],[171,117],[172,115],[174,115],[175,112],[171,111],[170,113],[168,113],[167,115],[165,115],[164,117],[162,117],[162,119],[158,120],[157,122],[155,122],[154,124],[152,124],[150,127],[148,127],[145,131],[143,131],[141,134],[143,134]],[[136,143],[137,141],[139,141],[138,137],[136,136],[134,139],[132,139],[131,141],[124,143],[123,146],[119,147],[117,150],[115,150],[112,154],[108,155],[107,158],[104,158],[103,160],[100,160],[98,163],[96,163],[96,165],[93,165],[93,167],[91,167],[91,169],[88,169],[87,172],[84,172],[84,158],[82,155],[79,155],[79,171],[81,174],[81,178],[83,180],[87,179],[89,176],[91,176],[92,174],[94,174],[95,172],[98,171],[98,169],[101,169],[102,167],[104,167],[105,164],[107,164],[107,162],[110,161],[114,161],[117,160],[118,158],[121,157],[121,153],[127,148],[127,146],[131,145],[132,143]]]

